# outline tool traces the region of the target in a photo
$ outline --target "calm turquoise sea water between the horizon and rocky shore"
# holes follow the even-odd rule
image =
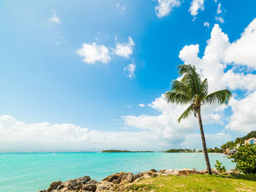
[[[233,169],[222,154],[209,154]],[[150,169],[206,169],[203,153],[9,153],[0,154],[0,191],[30,192],[48,188],[56,180],[89,175],[102,180],[116,172],[143,172]]]

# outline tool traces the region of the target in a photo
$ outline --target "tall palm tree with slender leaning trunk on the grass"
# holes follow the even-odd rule
[[[206,139],[203,133],[203,123],[201,118],[201,106],[204,104],[227,104],[232,96],[232,93],[227,90],[220,90],[208,94],[208,81],[207,79],[201,80],[200,75],[197,74],[195,66],[180,65],[178,66],[179,74],[182,75],[180,81],[173,80],[171,89],[165,93],[165,98],[168,103],[176,104],[190,104],[181,117],[178,118],[178,123],[181,119],[187,118],[191,113],[194,113],[197,118],[200,135],[203,145],[203,153],[206,158],[206,166],[208,173],[211,174],[211,166],[208,158]]]

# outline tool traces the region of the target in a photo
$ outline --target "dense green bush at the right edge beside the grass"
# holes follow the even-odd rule
[[[236,169],[245,174],[256,174],[256,145],[241,145],[236,154],[230,155]]]

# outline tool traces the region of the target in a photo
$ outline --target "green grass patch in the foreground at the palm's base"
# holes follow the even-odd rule
[[[256,174],[159,176],[121,186],[122,191],[256,191]]]

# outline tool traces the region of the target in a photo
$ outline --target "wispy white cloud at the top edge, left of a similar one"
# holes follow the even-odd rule
[[[181,1],[178,1],[178,0],[157,0],[157,1],[159,4],[157,5],[157,7],[155,7],[155,11],[158,18],[162,18],[169,15],[174,7],[179,7],[181,5]]]

